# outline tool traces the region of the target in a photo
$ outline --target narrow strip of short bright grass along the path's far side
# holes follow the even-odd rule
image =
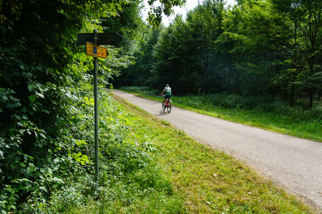
[[[122,91],[132,93],[143,98],[149,98],[155,101],[162,100],[162,98],[156,95],[142,94],[128,90]],[[227,108],[222,106],[214,106],[209,105],[209,103],[197,102],[194,102],[194,104],[192,105],[186,105],[186,99],[186,97],[175,96],[171,98],[171,100],[173,101],[173,106],[184,108],[200,114],[218,117],[224,120],[249,125],[252,127],[257,127],[276,133],[288,134],[303,139],[322,142],[321,118],[316,118],[316,121],[313,122],[303,121],[301,119],[297,119],[296,121],[294,121],[293,118],[290,118],[289,116],[285,116],[283,114],[264,112],[262,111],[262,109],[259,108],[247,110],[241,108]],[[198,97],[195,96],[195,99],[198,100]],[[320,114],[320,117],[321,116],[322,112]]]

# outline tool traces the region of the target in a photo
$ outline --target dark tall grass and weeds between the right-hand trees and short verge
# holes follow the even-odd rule
[[[242,116],[241,112],[252,115],[251,120],[268,120],[280,128],[294,126],[308,133],[322,135],[322,102],[316,102],[312,109],[273,100],[267,97],[242,97],[235,94],[210,94],[173,98],[175,103],[200,110],[225,112],[233,117]],[[262,119],[261,119],[262,118]],[[263,120],[264,119],[264,120]]]

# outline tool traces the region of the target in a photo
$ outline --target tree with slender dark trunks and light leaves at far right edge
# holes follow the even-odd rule
[[[309,90],[310,103],[313,105],[313,91],[320,90],[316,79],[321,74],[321,35],[322,35],[322,1],[318,0],[272,0],[274,7],[287,15],[294,23],[295,47],[298,48],[299,58],[296,64],[305,71],[305,87]],[[306,61],[306,65],[298,61]]]

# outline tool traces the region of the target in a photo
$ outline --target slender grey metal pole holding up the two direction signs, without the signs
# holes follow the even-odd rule
[[[93,30],[94,44],[97,44],[97,30]],[[95,174],[99,182],[99,113],[98,113],[98,86],[97,86],[97,57],[94,57],[94,115],[95,115]]]

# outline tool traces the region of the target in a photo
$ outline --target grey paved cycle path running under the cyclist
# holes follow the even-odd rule
[[[166,120],[194,139],[246,162],[291,192],[322,209],[322,143],[274,133],[175,107],[123,91],[113,92],[129,103]],[[160,97],[160,101],[162,98]]]

